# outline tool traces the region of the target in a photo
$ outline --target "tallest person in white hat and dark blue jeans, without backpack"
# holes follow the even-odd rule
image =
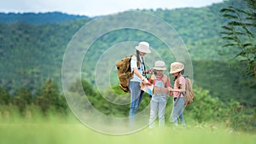
[[[134,72],[134,74],[129,84],[129,89],[131,92],[129,123],[131,125],[134,124],[137,109],[140,106],[141,101],[143,100],[143,90],[141,90],[140,84],[143,83],[150,85],[148,79],[143,76],[143,72],[145,71],[143,56],[151,53],[149,49],[149,43],[140,42],[138,46],[136,46],[136,49],[137,55],[133,55],[131,57],[131,72]]]

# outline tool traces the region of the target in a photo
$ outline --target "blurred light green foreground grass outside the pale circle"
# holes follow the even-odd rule
[[[168,123],[168,122],[166,122]],[[187,130],[140,130],[130,135],[106,135],[90,130],[72,114],[68,116],[26,116],[12,114],[0,118],[0,144],[128,144],[128,143],[207,143],[254,144],[255,134],[230,131],[211,124],[195,124]]]

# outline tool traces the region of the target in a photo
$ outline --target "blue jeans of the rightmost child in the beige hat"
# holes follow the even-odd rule
[[[177,104],[176,104],[176,102],[177,102]],[[176,101],[173,101],[173,107],[172,107],[170,121],[172,123],[174,123],[175,125],[177,125],[178,119],[183,124],[183,126],[185,125],[185,119],[183,118],[184,104],[185,104],[185,100],[183,97],[180,97],[178,101],[177,101],[177,99],[176,99]]]

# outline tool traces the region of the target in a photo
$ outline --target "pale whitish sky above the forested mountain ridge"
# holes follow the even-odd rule
[[[131,9],[204,7],[224,0],[0,0],[0,12],[53,12],[98,16]]]

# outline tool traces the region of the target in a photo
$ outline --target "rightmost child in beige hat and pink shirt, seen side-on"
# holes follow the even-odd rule
[[[173,107],[170,117],[170,121],[174,123],[174,128],[177,127],[177,119],[185,126],[185,120],[183,118],[184,109],[184,92],[186,88],[186,80],[183,77],[184,65],[181,62],[173,62],[171,64],[171,74],[174,77],[173,89],[169,89],[173,93]]]

